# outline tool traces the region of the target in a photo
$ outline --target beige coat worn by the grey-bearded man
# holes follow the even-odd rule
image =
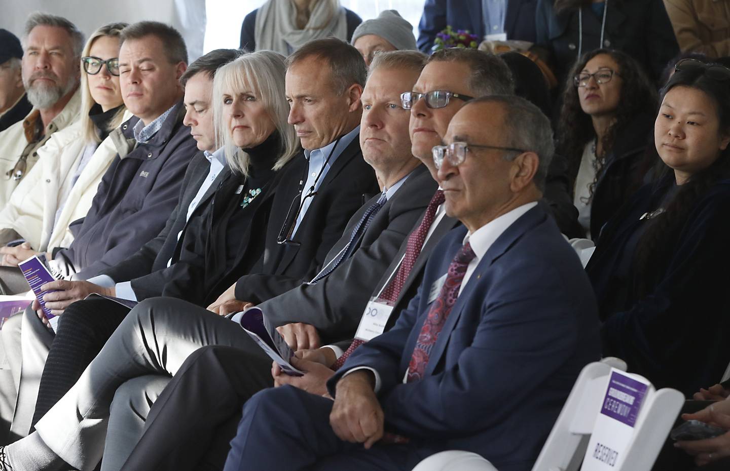
[[[23,178],[28,176],[31,169],[38,161],[37,151],[45,145],[48,139],[50,139],[50,136],[52,136],[56,131],[61,131],[78,120],[80,106],[81,94],[77,90],[69,100],[69,103],[67,103],[66,106],[64,106],[64,109],[58,113],[58,116],[48,123],[45,129],[45,137],[35,144],[32,149],[30,149],[27,160],[28,166],[23,174]],[[36,109],[32,109],[28,116],[34,112],[36,112]],[[13,190],[15,190],[15,187],[18,187],[18,184],[22,181],[22,179],[12,179],[12,176],[9,176],[7,172],[12,171],[12,168],[14,168],[15,164],[18,163],[18,157],[20,157],[28,146],[23,122],[25,122],[25,120],[16,122],[14,125],[0,133],[0,209],[5,207]]]

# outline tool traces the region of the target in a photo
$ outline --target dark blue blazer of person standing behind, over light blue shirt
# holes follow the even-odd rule
[[[507,39],[535,42],[537,0],[507,0],[504,31]],[[481,38],[486,34],[482,0],[426,0],[418,25],[418,49],[431,52],[436,35],[446,26],[468,29]]]

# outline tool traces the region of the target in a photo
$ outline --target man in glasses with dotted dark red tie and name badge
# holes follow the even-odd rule
[[[475,75],[477,77],[472,79]],[[506,64],[496,56],[475,50],[450,50],[429,57],[412,89],[416,93],[449,90],[466,96],[481,96],[511,93],[513,87]],[[410,96],[407,97],[404,107],[410,108],[411,112],[411,153],[429,168],[435,180],[437,169],[431,149],[441,144],[448,122],[466,102],[455,98],[445,106],[431,107],[425,99],[411,101]],[[395,324],[399,312],[415,296],[434,246],[458,224],[458,219],[445,214],[443,192],[437,190],[429,208],[369,294],[373,298],[388,298],[392,311],[385,320],[385,328]],[[350,309],[361,313],[361,318],[366,318],[367,297],[360,300],[348,297],[345,301]],[[353,338],[350,338],[317,350],[299,350],[293,362],[306,374],[288,376],[274,367],[275,384],[292,384],[309,392],[326,394],[326,381],[344,361],[345,353],[353,350],[353,345]],[[215,463],[218,456],[224,456],[240,416],[240,405],[258,390],[251,386],[247,356],[248,353],[240,349],[207,346],[188,357],[172,379],[171,386],[150,410],[145,434],[124,469],[196,467],[199,459],[192,453],[204,454],[209,447],[210,451],[202,459]],[[183,419],[180,410],[191,410],[191,413],[180,420]],[[206,438],[201,441],[200,437]]]

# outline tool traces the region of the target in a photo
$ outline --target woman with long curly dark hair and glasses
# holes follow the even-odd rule
[[[642,155],[656,91],[629,55],[599,49],[575,63],[558,121],[556,154],[586,235],[601,227],[642,184]]]

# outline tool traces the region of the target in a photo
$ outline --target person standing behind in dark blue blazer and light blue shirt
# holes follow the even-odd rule
[[[426,0],[418,25],[418,49],[431,52],[436,35],[446,26],[469,30],[479,37],[478,42],[491,35],[535,42],[536,7],[537,0]]]

